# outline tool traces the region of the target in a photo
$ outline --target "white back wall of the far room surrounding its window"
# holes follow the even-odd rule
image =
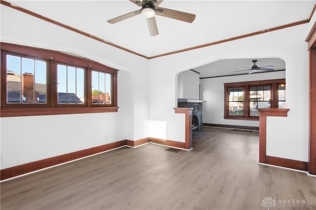
[[[256,120],[224,119],[224,83],[247,82],[270,79],[284,79],[285,71],[260,74],[247,74],[227,77],[201,79],[203,100],[203,123],[259,126]]]

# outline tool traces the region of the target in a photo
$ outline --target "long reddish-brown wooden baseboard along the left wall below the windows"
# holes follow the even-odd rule
[[[101,145],[101,146],[97,146],[97,147],[93,147],[93,148],[89,148],[85,150],[74,151],[74,152],[70,152],[67,154],[62,154],[62,155],[58,155],[54,157],[49,157],[46,159],[42,159],[42,160],[30,162],[30,163],[25,163],[25,164],[13,166],[10,168],[5,168],[5,169],[0,170],[0,180],[6,180],[12,177],[38,171],[40,169],[59,165],[59,164],[69,162],[72,160],[77,160],[82,157],[87,157],[87,156],[105,152],[108,150],[118,149],[124,146],[126,146],[126,140],[113,142],[113,143],[109,143],[106,145]]]

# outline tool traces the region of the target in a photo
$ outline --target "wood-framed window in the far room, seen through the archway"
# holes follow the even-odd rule
[[[259,120],[260,108],[285,108],[285,79],[224,84],[224,118]]]

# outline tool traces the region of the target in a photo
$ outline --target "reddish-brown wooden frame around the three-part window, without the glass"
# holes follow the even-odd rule
[[[103,112],[118,112],[118,100],[117,100],[117,73],[118,70],[103,65],[101,63],[88,60],[85,58],[79,58],[73,55],[40,49],[29,46],[22,46],[10,43],[0,43],[1,49],[1,112],[0,117],[18,117],[18,116],[38,116],[38,115],[63,115],[63,114],[83,114],[83,113],[103,113]],[[48,78],[47,78],[47,104],[7,104],[6,101],[6,68],[5,68],[5,53],[12,55],[19,54],[25,57],[38,58],[40,60],[48,60]],[[56,104],[56,87],[54,83],[56,81],[56,69],[57,63],[64,63],[67,65],[78,66],[86,69],[85,77],[85,104],[84,105],[60,105]],[[89,87],[91,85],[91,72],[92,70],[103,71],[112,75],[112,104],[106,105],[92,105],[92,98]],[[88,82],[90,81],[90,82]]]

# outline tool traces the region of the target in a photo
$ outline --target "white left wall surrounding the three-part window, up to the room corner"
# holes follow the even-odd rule
[[[1,42],[74,53],[119,70],[118,113],[1,118],[1,169],[148,137],[148,60],[9,7],[0,8]]]

